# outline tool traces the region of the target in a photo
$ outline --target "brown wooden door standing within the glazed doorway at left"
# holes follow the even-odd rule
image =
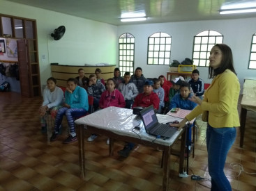
[[[27,59],[27,46],[25,40],[17,40],[17,52],[20,74],[20,89],[24,97],[32,97],[29,72],[29,60]]]

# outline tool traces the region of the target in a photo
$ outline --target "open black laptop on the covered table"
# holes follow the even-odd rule
[[[152,105],[141,110],[140,117],[142,118],[146,133],[150,135],[160,136],[161,138],[171,138],[178,129],[169,124],[160,124]]]

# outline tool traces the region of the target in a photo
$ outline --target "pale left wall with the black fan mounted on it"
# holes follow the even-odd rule
[[[42,86],[51,75],[50,63],[118,63],[117,26],[3,0],[0,0],[0,13],[36,19]],[[66,33],[61,40],[54,41],[50,34],[61,25],[66,26]]]

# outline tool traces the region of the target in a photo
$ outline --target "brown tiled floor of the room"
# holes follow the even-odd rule
[[[137,146],[126,159],[117,155],[123,142],[115,142],[108,156],[106,137],[85,143],[86,178],[80,178],[77,142],[62,144],[67,131],[50,143],[40,133],[40,98],[24,98],[0,92],[0,190],[162,190],[161,152]],[[190,157],[189,174],[209,178],[205,142],[206,124],[199,124],[195,158]],[[233,190],[256,190],[256,113],[248,112],[243,149],[237,138],[227,156],[225,173]],[[65,127],[65,123],[63,124]],[[86,132],[86,138],[90,135]],[[243,172],[239,173],[241,164]],[[170,190],[210,190],[210,181],[178,177],[179,160],[171,156]],[[247,173],[246,173],[247,172]]]

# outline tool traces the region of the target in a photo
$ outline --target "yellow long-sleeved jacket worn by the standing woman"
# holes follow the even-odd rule
[[[212,127],[240,126],[237,103],[239,99],[240,83],[234,72],[226,69],[215,78],[204,93],[200,106],[186,116],[190,121],[204,111],[209,111],[208,123]]]

